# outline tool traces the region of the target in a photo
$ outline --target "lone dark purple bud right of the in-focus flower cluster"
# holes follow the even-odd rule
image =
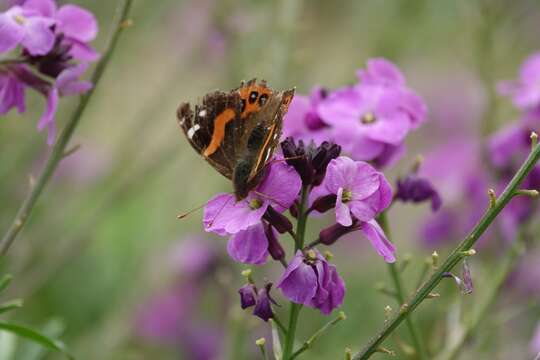
[[[419,178],[416,175],[408,175],[405,179],[398,180],[396,199],[413,203],[431,200],[433,211],[439,210],[442,204],[441,197],[433,185],[427,179]]]

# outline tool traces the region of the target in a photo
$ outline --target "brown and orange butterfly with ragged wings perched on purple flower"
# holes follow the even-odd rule
[[[262,180],[293,96],[294,89],[274,91],[252,79],[229,92],[206,94],[193,110],[180,104],[178,123],[195,151],[232,181],[241,200]]]

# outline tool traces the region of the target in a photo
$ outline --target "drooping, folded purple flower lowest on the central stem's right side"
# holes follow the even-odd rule
[[[345,296],[345,283],[336,267],[317,250],[308,250],[305,256],[297,251],[277,287],[292,302],[317,308],[326,315],[340,306]]]

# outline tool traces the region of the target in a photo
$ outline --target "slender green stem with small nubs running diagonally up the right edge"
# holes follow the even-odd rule
[[[386,322],[383,329],[373,339],[371,339],[368,345],[361,352],[354,356],[354,359],[369,359],[371,355],[377,351],[382,342],[424,301],[429,293],[439,284],[442,279],[442,274],[452,270],[452,268],[461,261],[463,258],[462,252],[471,249],[480,236],[486,231],[489,225],[491,225],[497,215],[512,199],[516,190],[518,190],[518,186],[536,165],[539,158],[540,145],[536,145],[501,196],[497,199],[494,206],[491,206],[486,211],[469,236],[467,236],[454,249],[454,251],[446,258],[441,267],[434,272],[433,275],[431,275],[431,277],[420,289],[416,291],[411,301],[408,304],[404,304],[404,306],[401,307],[401,311],[392,320]]]

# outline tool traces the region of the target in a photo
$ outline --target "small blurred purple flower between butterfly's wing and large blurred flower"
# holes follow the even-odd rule
[[[331,140],[331,128],[318,112],[326,96],[327,91],[321,87],[315,87],[310,96],[295,95],[283,118],[283,137],[316,143]]]

